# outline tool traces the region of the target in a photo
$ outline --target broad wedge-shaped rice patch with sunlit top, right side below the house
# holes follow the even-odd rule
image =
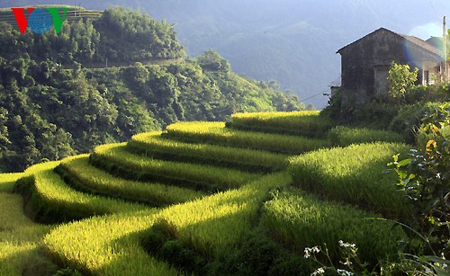
[[[380,212],[387,218],[410,214],[410,205],[397,191],[394,174],[383,174],[392,156],[409,147],[374,143],[321,149],[293,157],[289,171],[295,185],[329,200]]]

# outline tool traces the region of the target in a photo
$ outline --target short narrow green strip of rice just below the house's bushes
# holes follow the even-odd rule
[[[329,130],[328,138],[332,145],[347,147],[351,144],[373,143],[373,142],[403,142],[403,138],[388,130],[348,128],[338,126]]]

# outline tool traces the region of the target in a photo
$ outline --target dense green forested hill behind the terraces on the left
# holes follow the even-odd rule
[[[109,8],[58,34],[15,29],[0,22],[0,171],[179,120],[304,108],[274,83],[237,76],[213,50],[184,59],[172,25],[145,13]]]

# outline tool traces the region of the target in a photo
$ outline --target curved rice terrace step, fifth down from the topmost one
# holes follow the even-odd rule
[[[160,183],[139,183],[107,174],[89,165],[88,155],[68,157],[61,161],[61,168],[90,193],[103,194],[123,200],[164,206],[202,198],[205,194]]]

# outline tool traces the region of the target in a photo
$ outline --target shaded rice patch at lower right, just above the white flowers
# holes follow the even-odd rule
[[[376,219],[373,213],[319,200],[302,191],[276,191],[265,203],[262,224],[275,239],[300,254],[305,247],[327,246],[332,260],[340,260],[339,240],[358,246],[358,255],[374,267],[397,254],[400,228]],[[328,260],[322,260],[328,262]],[[338,264],[336,262],[335,264]]]

